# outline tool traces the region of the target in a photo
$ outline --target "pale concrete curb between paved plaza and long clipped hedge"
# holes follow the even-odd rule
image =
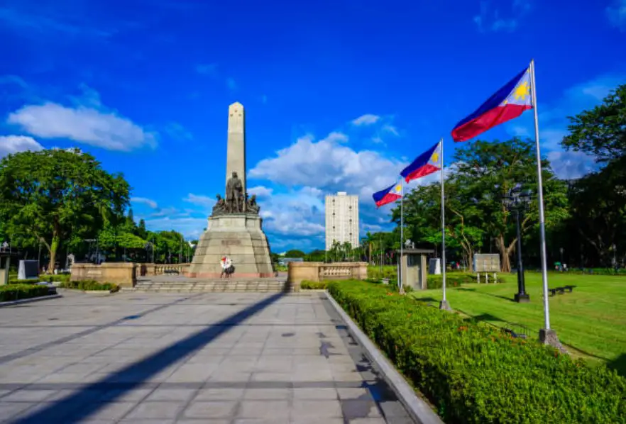
[[[358,328],[358,325],[354,323],[350,316],[348,316],[344,309],[339,306],[339,303],[333,299],[328,291],[324,294],[326,295],[326,299],[329,300],[329,303],[344,320],[344,323],[346,323],[348,330],[353,335],[354,339],[361,344],[363,349],[366,350],[366,354],[370,360],[377,365],[380,372],[382,372],[385,376],[385,379],[388,381],[393,391],[395,391],[400,399],[400,402],[402,402],[415,422],[421,424],[444,424],[443,420],[439,418],[439,415],[436,415],[436,413],[432,411],[430,406],[425,401],[417,397],[414,389],[407,383],[404,377],[397,372],[393,364],[391,364],[385,355],[378,350],[378,347],[376,347],[369,337],[363,333],[361,328]]]

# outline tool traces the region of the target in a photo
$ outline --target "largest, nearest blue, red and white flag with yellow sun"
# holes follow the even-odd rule
[[[452,130],[452,139],[469,140],[496,125],[517,118],[528,109],[532,109],[529,68],[517,74],[474,113],[457,123]]]

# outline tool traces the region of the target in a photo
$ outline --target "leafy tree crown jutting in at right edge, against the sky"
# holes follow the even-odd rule
[[[626,156],[626,84],[605,97],[603,103],[577,116],[569,116],[566,150],[595,155],[598,162]]]

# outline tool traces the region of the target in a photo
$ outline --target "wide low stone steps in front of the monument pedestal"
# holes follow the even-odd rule
[[[197,281],[167,281],[145,279],[137,281],[133,288],[121,291],[143,291],[160,293],[177,292],[233,292],[260,291],[280,292],[291,291],[291,285],[285,279],[198,279]]]

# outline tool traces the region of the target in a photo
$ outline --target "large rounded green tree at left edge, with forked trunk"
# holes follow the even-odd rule
[[[62,242],[93,236],[128,206],[122,174],[79,150],[19,152],[0,161],[0,219],[9,237],[42,242],[55,267]]]

